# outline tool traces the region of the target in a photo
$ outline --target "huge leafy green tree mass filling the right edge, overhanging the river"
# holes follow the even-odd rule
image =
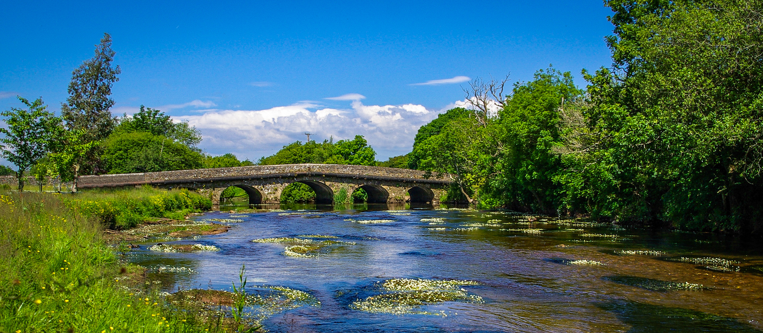
[[[692,229],[763,229],[760,1],[613,0],[611,69],[568,128],[565,204]]]

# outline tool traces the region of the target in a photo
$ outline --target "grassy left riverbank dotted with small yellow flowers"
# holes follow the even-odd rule
[[[0,332],[222,331],[198,309],[165,304],[151,283],[119,281],[134,267],[121,264],[101,235],[102,223],[126,227],[204,204],[151,189],[0,193]]]

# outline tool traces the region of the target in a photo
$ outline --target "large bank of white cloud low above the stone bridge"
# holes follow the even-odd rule
[[[419,104],[364,105],[350,100],[349,108],[320,108],[314,102],[271,107],[266,110],[212,110],[200,115],[173,117],[188,120],[201,130],[200,147],[212,154],[233,152],[239,158],[256,159],[272,155],[281,146],[300,140],[302,133],[322,141],[365,136],[378,152],[377,158],[410,151],[420,126],[437,117],[439,111]]]

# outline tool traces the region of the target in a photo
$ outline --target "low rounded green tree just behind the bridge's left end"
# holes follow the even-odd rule
[[[147,132],[115,133],[102,146],[110,174],[194,169],[204,161],[194,149]]]

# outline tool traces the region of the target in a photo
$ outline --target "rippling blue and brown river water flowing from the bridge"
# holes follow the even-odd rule
[[[297,208],[307,210],[206,213],[196,219],[222,219],[233,228],[165,243],[214,245],[220,251],[165,253],[141,246],[128,258],[149,267],[150,277],[162,280],[169,292],[230,290],[246,265],[250,285],[303,290],[320,301],[270,315],[262,324],[272,332],[763,330],[759,239],[510,212]],[[308,258],[285,255],[295,243],[252,242],[282,237],[308,245],[333,242],[300,252]],[[175,273],[166,273],[167,267]],[[385,281],[412,281],[394,279],[462,280],[454,282],[462,285],[446,290],[459,293],[456,298],[408,308],[395,308],[400,298],[387,295],[394,309],[404,309],[394,313],[364,303],[399,292],[385,289]]]

